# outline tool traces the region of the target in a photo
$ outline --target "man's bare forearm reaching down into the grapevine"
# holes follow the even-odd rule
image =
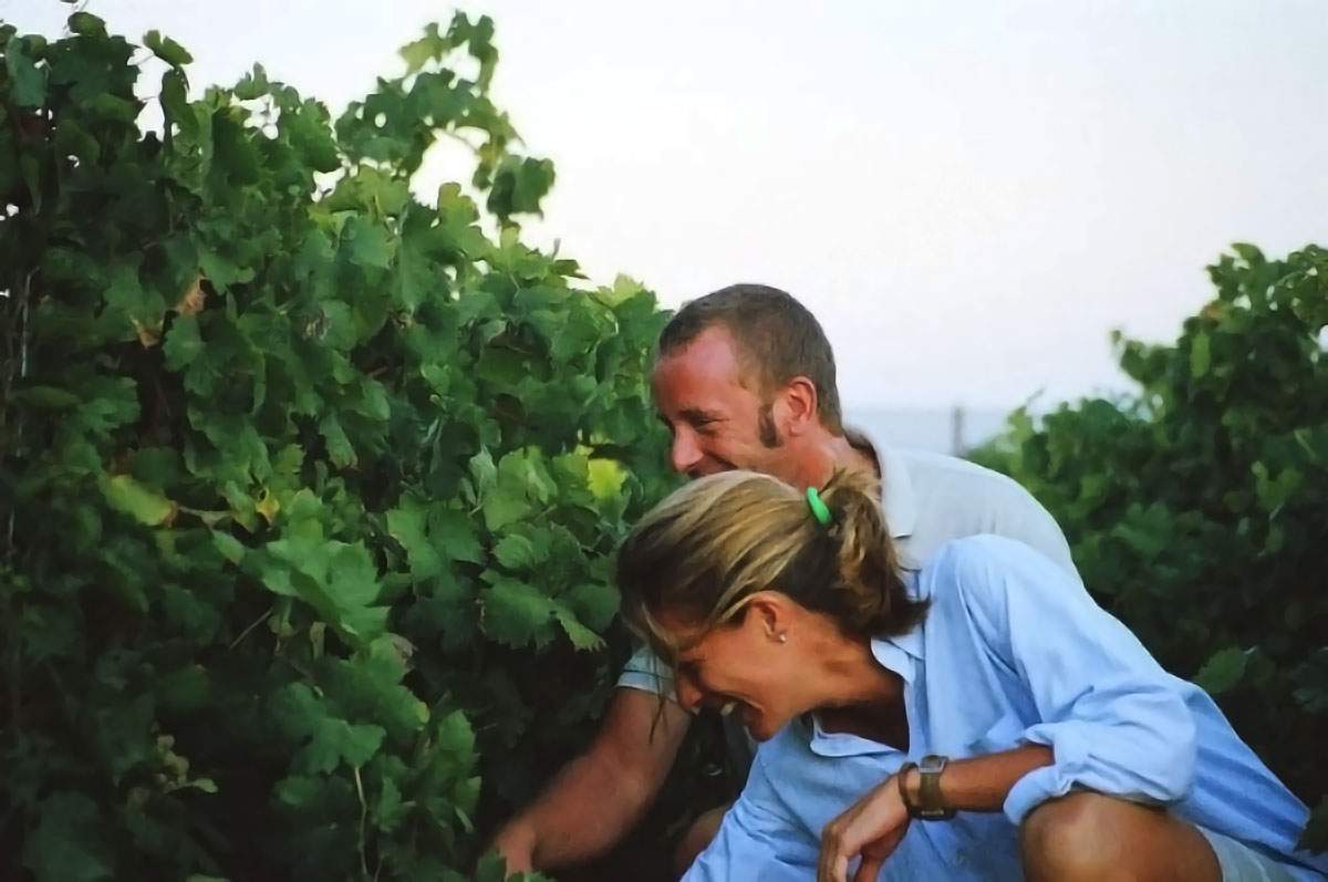
[[[590,749],[494,837],[507,871],[552,869],[608,850],[664,785],[691,720],[673,701],[660,708],[652,692],[616,689]]]

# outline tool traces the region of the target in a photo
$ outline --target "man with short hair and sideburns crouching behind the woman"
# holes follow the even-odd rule
[[[822,486],[839,468],[882,481],[904,566],[951,539],[996,533],[1023,541],[1077,579],[1060,527],[1009,478],[954,457],[892,452],[845,432],[834,355],[815,317],[790,295],[738,284],[683,307],[664,328],[651,376],[673,436],[669,464],[696,478],[728,469]],[[495,837],[509,871],[552,869],[618,842],[659,793],[691,716],[667,669],[637,652],[590,749]],[[679,847],[685,869],[718,829],[703,816]]]

